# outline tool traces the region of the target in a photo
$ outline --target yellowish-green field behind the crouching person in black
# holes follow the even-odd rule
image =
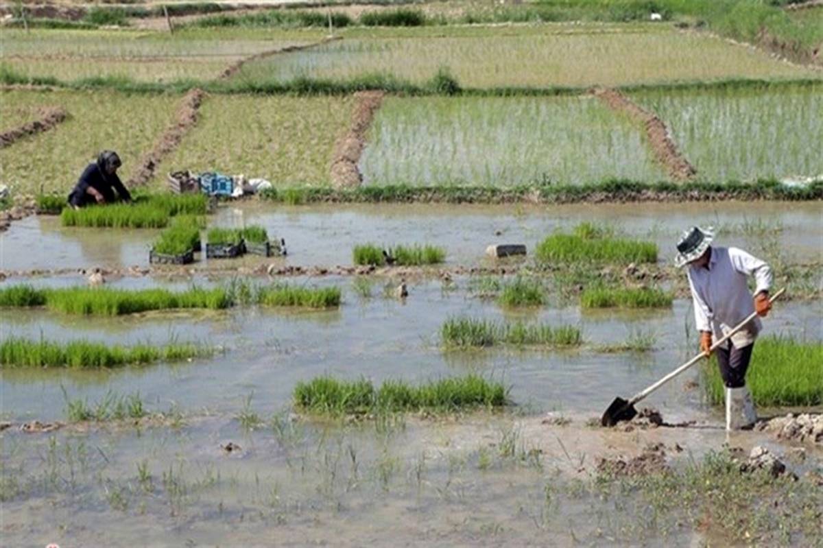
[[[117,151],[125,181],[169,125],[179,103],[174,95],[128,95],[115,91],[0,91],[6,112],[62,106],[65,122],[39,136],[0,149],[3,183],[18,192],[66,195],[86,165],[103,149]]]

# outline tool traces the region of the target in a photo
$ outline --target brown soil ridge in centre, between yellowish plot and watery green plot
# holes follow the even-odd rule
[[[383,91],[359,91],[355,94],[351,125],[346,134],[337,139],[332,154],[331,178],[335,187],[356,187],[363,182],[357,163],[365,148],[366,133],[374,120],[374,113],[383,103],[384,95]]]

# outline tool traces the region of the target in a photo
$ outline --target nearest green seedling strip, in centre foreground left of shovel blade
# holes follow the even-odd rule
[[[397,412],[449,413],[479,407],[500,407],[508,391],[479,375],[442,378],[413,386],[388,380],[375,388],[368,380],[345,381],[330,376],[297,383],[295,406],[318,415],[344,416]]]

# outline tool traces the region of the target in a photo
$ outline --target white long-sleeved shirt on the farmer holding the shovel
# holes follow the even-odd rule
[[[689,286],[695,301],[695,325],[700,331],[710,331],[715,340],[732,330],[755,311],[746,284],[747,276],[755,276],[755,294],[768,291],[772,272],[768,264],[738,248],[712,247],[708,268],[689,267]],[[732,336],[736,348],[748,346],[760,332],[760,318]]]

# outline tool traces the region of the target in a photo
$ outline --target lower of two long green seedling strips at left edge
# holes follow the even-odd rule
[[[0,366],[12,368],[114,368],[124,365],[145,365],[156,361],[188,360],[211,354],[212,350],[209,348],[176,343],[166,346],[126,347],[91,341],[32,341],[21,337],[9,337],[0,342]]]

